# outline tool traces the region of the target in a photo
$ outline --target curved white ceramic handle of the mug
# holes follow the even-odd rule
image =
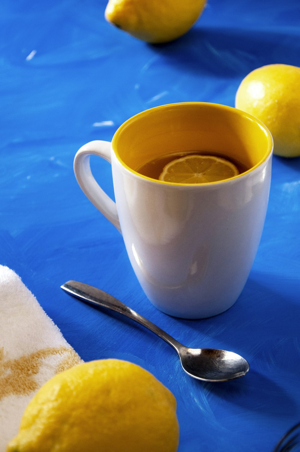
[[[74,158],[74,173],[77,182],[85,196],[95,207],[121,232],[116,203],[97,184],[89,165],[89,156],[98,155],[110,164],[111,143],[109,141],[89,141],[76,152]],[[122,232],[121,232],[122,234]]]

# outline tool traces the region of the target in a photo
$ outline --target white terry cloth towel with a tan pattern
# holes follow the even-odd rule
[[[0,452],[38,389],[80,362],[19,276],[0,265]]]

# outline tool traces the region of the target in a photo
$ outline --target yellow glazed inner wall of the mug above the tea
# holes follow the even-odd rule
[[[249,172],[267,159],[272,147],[272,136],[258,119],[236,108],[202,102],[145,110],[124,122],[112,139],[117,159],[133,173],[159,156],[186,151],[227,156]]]

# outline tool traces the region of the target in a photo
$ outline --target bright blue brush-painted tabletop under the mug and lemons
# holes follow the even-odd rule
[[[85,361],[132,361],[173,392],[178,452],[271,452],[300,420],[300,159],[273,158],[246,287],[229,311],[206,320],[150,304],[122,236],[85,198],[72,164],[81,145],[110,141],[135,113],[182,101],[234,106],[249,71],[300,66],[299,0],[208,0],[189,33],[155,46],[106,23],[105,6],[1,2],[0,263],[19,273]],[[110,165],[91,160],[113,196]],[[188,377],[154,334],[68,297],[60,285],[69,279],[111,293],[183,344],[241,354],[250,372],[219,384]]]

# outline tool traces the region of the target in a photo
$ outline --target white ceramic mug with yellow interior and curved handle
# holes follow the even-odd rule
[[[263,231],[273,141],[258,119],[200,102],[151,108],[107,141],[75,155],[76,179],[122,233],[136,276],[161,311],[182,318],[220,314],[243,290]],[[173,152],[203,151],[240,161],[246,171],[207,184],[162,182],[136,172]],[[116,203],[98,186],[89,155],[112,164]]]

